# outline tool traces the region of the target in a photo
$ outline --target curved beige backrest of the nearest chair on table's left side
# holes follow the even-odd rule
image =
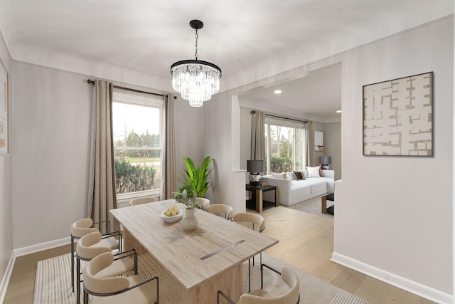
[[[107,268],[114,261],[112,253],[105,252],[93,258],[82,271],[84,286],[92,293],[117,293],[129,288],[129,281],[123,276],[97,278],[97,273]]]

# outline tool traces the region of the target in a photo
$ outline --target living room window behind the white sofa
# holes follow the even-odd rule
[[[267,174],[304,169],[306,167],[306,124],[266,116],[265,157]]]

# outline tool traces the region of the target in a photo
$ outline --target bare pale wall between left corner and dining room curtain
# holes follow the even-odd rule
[[[14,248],[68,237],[87,216],[92,85],[14,63]]]

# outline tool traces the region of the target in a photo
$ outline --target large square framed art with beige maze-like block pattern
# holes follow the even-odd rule
[[[363,85],[363,155],[433,156],[433,72]]]

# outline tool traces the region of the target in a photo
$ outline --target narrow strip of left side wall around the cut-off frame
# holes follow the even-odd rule
[[[13,139],[11,137],[11,126],[13,123],[13,117],[11,112],[13,108],[13,94],[11,88],[13,88],[12,81],[12,63],[6,46],[4,44],[3,37],[0,36],[0,59],[4,64],[6,71],[9,73],[9,154],[0,155],[0,274],[1,274],[1,285],[0,285],[0,302],[6,292],[6,282],[4,274],[6,271],[11,271],[11,265],[9,261],[11,253],[14,248],[14,231],[13,231],[13,152],[12,147]],[[0,63],[1,67],[1,63]],[[1,67],[2,68],[2,67]],[[7,268],[9,268],[7,270]]]

